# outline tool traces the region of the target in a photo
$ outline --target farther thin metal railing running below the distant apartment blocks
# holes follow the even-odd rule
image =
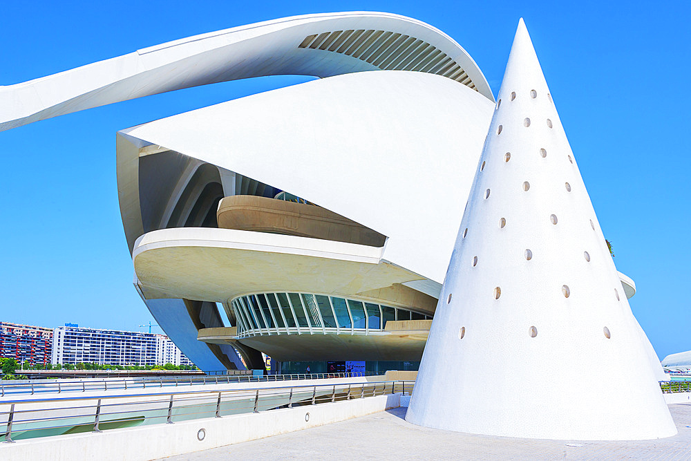
[[[214,372],[211,372],[214,373]],[[86,392],[86,391],[111,391],[115,389],[133,389],[133,388],[155,388],[168,386],[192,386],[200,384],[231,384],[231,383],[245,383],[245,382],[274,382],[274,381],[294,381],[296,379],[330,379],[330,378],[345,378],[345,377],[365,377],[373,376],[376,373],[372,372],[356,372],[356,373],[310,373],[310,374],[294,374],[294,375],[208,375],[201,377],[184,376],[184,377],[141,377],[141,378],[114,378],[114,379],[97,379],[97,380],[58,380],[51,382],[35,382],[31,380],[28,382],[15,382],[12,384],[3,384],[0,381],[0,397],[6,395],[17,394],[38,394],[38,393],[64,393],[68,391]]]

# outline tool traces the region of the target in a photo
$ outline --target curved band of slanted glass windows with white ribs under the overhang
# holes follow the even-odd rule
[[[341,332],[366,335],[391,320],[432,317],[404,308],[311,293],[247,294],[231,302],[238,336]]]

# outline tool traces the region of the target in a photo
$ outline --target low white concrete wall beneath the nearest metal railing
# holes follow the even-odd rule
[[[0,444],[0,459],[153,460],[349,420],[399,405],[400,395],[379,395],[263,413],[19,440]]]

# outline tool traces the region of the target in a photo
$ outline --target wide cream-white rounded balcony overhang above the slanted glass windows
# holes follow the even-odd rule
[[[146,299],[227,303],[254,292],[357,295],[433,314],[437,299],[404,286],[424,279],[381,258],[382,248],[234,229],[180,227],[149,232],[133,251]]]

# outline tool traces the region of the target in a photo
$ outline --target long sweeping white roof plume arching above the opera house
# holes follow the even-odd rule
[[[470,55],[437,28],[390,13],[337,12],[218,30],[0,86],[0,131],[193,86],[265,75],[331,77],[365,70],[443,75],[494,101]]]

